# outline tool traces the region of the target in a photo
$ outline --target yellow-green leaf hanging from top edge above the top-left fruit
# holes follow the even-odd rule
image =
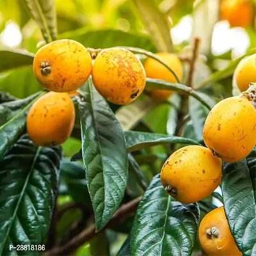
[[[22,0],[29,15],[35,20],[47,43],[56,40],[56,13],[54,0]]]

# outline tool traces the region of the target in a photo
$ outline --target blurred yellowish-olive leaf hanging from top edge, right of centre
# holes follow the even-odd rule
[[[166,16],[160,12],[154,1],[133,0],[140,12],[146,28],[152,36],[157,50],[161,52],[172,52],[172,38]]]

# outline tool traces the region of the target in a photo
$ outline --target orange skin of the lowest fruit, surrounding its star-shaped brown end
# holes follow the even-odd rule
[[[218,228],[219,237],[212,236],[211,239],[207,236],[206,230],[212,227]],[[207,255],[242,255],[228,227],[223,207],[216,208],[204,216],[199,226],[198,236]]]

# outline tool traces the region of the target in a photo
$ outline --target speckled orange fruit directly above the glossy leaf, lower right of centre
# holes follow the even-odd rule
[[[222,161],[202,146],[187,146],[174,152],[164,163],[161,182],[171,186],[170,193],[184,204],[209,196],[221,182]]]

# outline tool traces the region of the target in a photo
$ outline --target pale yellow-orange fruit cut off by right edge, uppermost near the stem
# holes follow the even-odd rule
[[[250,83],[256,82],[256,54],[252,54],[239,62],[233,79],[235,79],[241,92],[246,91]]]

